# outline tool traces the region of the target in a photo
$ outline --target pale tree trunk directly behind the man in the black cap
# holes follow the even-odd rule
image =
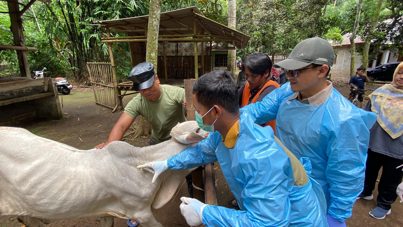
[[[160,31],[160,13],[161,13],[161,0],[151,0],[150,2],[150,14],[148,16],[147,27],[147,49],[145,53],[145,60],[154,64],[154,70],[157,72],[157,56],[158,56],[158,33]],[[196,53],[197,54],[197,53]],[[151,132],[150,123],[140,116],[139,124],[135,129],[135,136],[148,136]]]

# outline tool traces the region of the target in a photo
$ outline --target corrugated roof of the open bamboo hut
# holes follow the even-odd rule
[[[183,28],[183,30],[165,31],[164,34],[168,35],[170,33],[174,33],[192,36],[194,19],[199,21],[199,25],[197,25],[197,33],[201,33],[202,28],[205,27],[208,30],[206,31],[206,29],[204,29],[205,32],[210,33],[210,35],[235,38],[235,46],[239,48],[244,48],[246,43],[249,41],[249,35],[243,34],[235,29],[231,29],[225,25],[204,17],[202,12],[200,12],[196,6],[162,12],[160,14],[160,28],[173,29],[179,27]],[[109,21],[98,21],[98,23],[109,28],[133,31],[139,30],[135,33],[138,35],[144,35],[144,31],[141,30],[143,30],[144,27],[147,27],[148,15]],[[159,34],[162,35],[163,32],[160,31]],[[229,43],[232,44],[232,42]]]

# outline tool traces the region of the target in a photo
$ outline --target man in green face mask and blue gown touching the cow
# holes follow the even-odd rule
[[[155,170],[152,183],[169,169],[188,169],[218,161],[241,210],[203,204],[182,197],[181,213],[190,226],[327,227],[320,185],[270,127],[240,116],[237,85],[231,72],[216,70],[196,80],[192,89],[196,121],[212,132],[197,145],[165,161],[137,168]],[[309,160],[306,161],[307,167]]]

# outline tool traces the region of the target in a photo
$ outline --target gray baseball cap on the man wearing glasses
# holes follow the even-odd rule
[[[287,59],[274,64],[276,68],[295,70],[309,64],[328,65],[334,63],[334,51],[332,45],[320,38],[313,37],[299,42],[291,51]]]

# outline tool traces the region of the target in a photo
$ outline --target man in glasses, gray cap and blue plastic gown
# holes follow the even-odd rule
[[[312,162],[309,174],[326,196],[328,224],[345,227],[363,190],[369,129],[376,115],[353,106],[326,78],[334,62],[330,43],[320,37],[298,43],[274,67],[289,70],[286,83],[261,102],[241,109],[257,124],[276,119],[276,136],[299,159]]]

